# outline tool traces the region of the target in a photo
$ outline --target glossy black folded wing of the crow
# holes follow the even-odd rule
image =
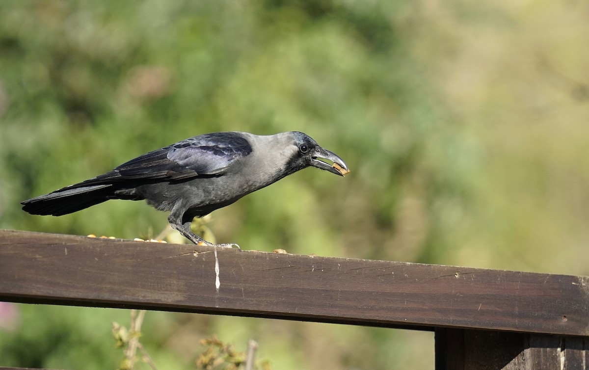
[[[76,186],[125,180],[182,180],[223,173],[233,161],[252,153],[240,133],[213,133],[187,138],[171,146],[143,154],[114,170]]]

